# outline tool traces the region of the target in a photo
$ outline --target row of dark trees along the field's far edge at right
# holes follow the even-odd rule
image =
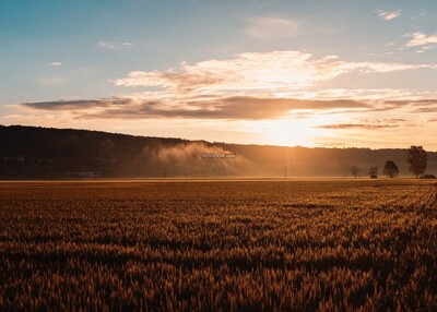
[[[435,178],[434,175],[424,175],[427,167],[427,155],[423,146],[412,145],[408,149],[406,161],[410,165],[410,171],[415,176],[416,179],[421,178]],[[351,175],[356,178],[359,173],[359,167],[351,167]],[[371,166],[368,169],[368,175],[370,178],[378,178],[379,168],[378,166]],[[382,175],[388,178],[395,178],[399,176],[399,167],[393,160],[387,160],[383,165]],[[422,176],[424,175],[424,176]]]

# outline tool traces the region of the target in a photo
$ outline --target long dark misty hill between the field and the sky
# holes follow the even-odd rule
[[[412,142],[414,144],[414,142]],[[306,148],[210,143],[99,131],[0,125],[0,179],[142,177],[345,177],[357,165],[408,170],[406,148]],[[211,155],[236,157],[204,158]],[[286,168],[286,169],[285,169]],[[428,173],[437,153],[428,152]]]

